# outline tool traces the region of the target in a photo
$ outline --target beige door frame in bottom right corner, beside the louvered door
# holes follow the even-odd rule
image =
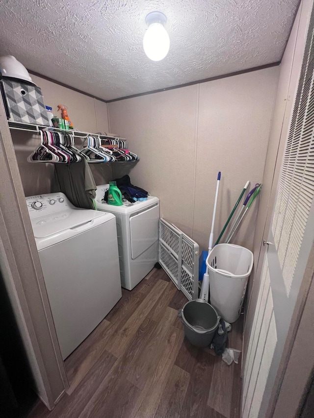
[[[299,416],[314,364],[313,318],[314,242],[293,311],[266,418]]]

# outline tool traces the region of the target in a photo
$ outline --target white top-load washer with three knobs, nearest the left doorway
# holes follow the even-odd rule
[[[115,218],[76,208],[63,193],[26,204],[65,359],[122,296]]]

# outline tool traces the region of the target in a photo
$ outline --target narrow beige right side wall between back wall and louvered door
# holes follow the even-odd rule
[[[247,337],[250,335],[253,325],[254,311],[252,312],[252,310],[257,303],[263,260],[266,253],[266,248],[262,246],[262,242],[263,239],[265,239],[265,234],[266,236],[268,235],[268,230],[270,227],[271,220],[267,215],[269,211],[272,212],[275,203],[280,167],[285,151],[288,128],[293,111],[294,98],[298,88],[312,7],[313,0],[302,0],[300,2],[286,51],[280,64],[281,70],[279,77],[283,77],[283,80],[279,79],[278,81],[272,125],[269,135],[269,145],[267,149],[265,170],[263,175],[264,185],[262,189],[258,214],[259,217],[262,216],[263,221],[258,222],[254,237],[254,255],[256,267],[254,267],[253,270],[252,283],[248,286],[243,338],[243,364],[245,364],[247,345],[249,342],[249,338]],[[286,55],[287,49],[289,49],[288,56]],[[289,54],[292,56],[291,58],[289,58]],[[256,257],[256,254],[258,254],[258,257]]]

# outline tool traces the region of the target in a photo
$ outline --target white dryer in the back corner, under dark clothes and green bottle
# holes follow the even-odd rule
[[[98,210],[116,217],[122,287],[133,289],[158,260],[159,199],[149,196],[131,206],[103,203],[109,184],[97,186]]]

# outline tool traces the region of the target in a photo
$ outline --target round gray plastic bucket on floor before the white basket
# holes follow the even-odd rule
[[[202,299],[185,303],[181,311],[185,337],[197,347],[207,347],[219,325],[220,317],[215,308]]]

